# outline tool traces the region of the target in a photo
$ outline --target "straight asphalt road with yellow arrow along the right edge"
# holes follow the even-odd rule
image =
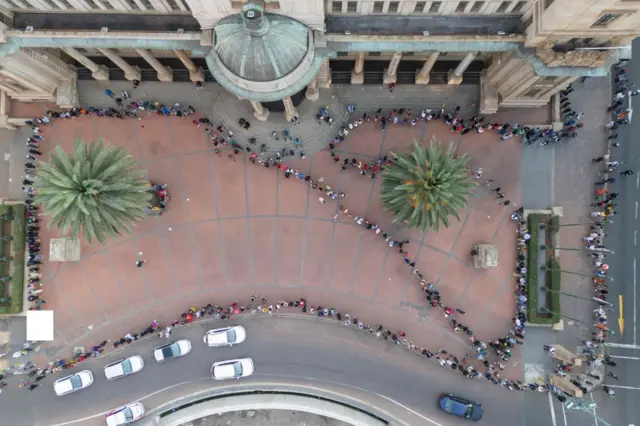
[[[633,42],[633,57],[625,67],[629,78],[636,82],[636,88],[640,85],[640,41]],[[628,98],[625,102],[629,102]],[[614,357],[617,367],[610,369],[620,377],[619,380],[607,378],[605,383],[616,386],[615,404],[613,401],[603,402],[602,415],[607,418],[609,412],[613,417],[619,419],[621,425],[637,424],[640,419],[640,347],[638,346],[637,330],[637,269],[640,268],[640,145],[637,135],[640,134],[640,98],[631,98],[631,107],[637,111],[632,115],[631,123],[617,129],[618,142],[620,147],[614,148],[613,158],[624,160],[627,164],[619,167],[619,170],[633,169],[634,176],[621,177],[619,173],[614,177],[617,182],[612,184],[610,191],[618,192],[620,195],[616,201],[617,214],[613,217],[613,223],[607,226],[608,236],[607,246],[615,251],[615,255],[607,257],[611,266],[611,277],[614,282],[609,284],[608,300],[613,303],[614,312],[611,313],[609,326],[615,330],[615,335],[609,338],[611,344],[608,348],[609,354]],[[619,301],[622,297],[622,303]],[[618,317],[624,318],[624,329],[618,325]],[[619,387],[618,387],[619,386]]]

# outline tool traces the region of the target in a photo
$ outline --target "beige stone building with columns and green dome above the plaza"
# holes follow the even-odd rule
[[[640,31],[637,0],[0,0],[9,101],[76,104],[78,78],[216,81],[251,102],[341,84],[467,84],[480,110],[545,105],[606,75]]]

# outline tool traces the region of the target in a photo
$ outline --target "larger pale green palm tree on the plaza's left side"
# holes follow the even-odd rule
[[[72,154],[58,146],[50,162],[40,164],[36,203],[50,216],[49,225],[104,244],[145,217],[151,200],[145,175],[122,148],[75,141]]]

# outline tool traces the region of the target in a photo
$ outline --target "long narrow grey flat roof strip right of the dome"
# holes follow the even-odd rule
[[[352,34],[496,35],[523,34],[518,16],[327,16],[327,32]]]

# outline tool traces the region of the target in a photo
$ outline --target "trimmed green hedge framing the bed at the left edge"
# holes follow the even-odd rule
[[[26,237],[26,208],[24,204],[0,205],[0,216],[11,214],[16,217],[11,222],[11,235],[13,240],[13,259],[10,264],[13,266],[13,276],[11,278],[11,302],[0,304],[0,314],[19,314],[22,312],[24,304],[24,268],[25,268],[25,237]],[[2,228],[4,228],[2,226]],[[9,265],[5,263],[4,265]],[[6,267],[6,266],[5,266]],[[9,268],[2,270],[3,276],[7,275]],[[5,296],[3,293],[2,296]]]

